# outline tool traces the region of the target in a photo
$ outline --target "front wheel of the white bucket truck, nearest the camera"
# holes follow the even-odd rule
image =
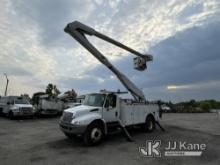
[[[103,127],[99,123],[91,123],[84,133],[84,143],[88,146],[98,145],[103,137]]]

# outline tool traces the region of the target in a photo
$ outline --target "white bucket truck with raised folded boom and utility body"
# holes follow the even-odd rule
[[[86,38],[86,35],[96,36],[125,49],[137,57],[134,58],[134,68],[145,70],[146,63],[152,61],[151,55],[141,54],[112,38],[103,35],[93,28],[80,22],[69,23],[64,31],[70,34],[95,58],[109,68],[134,97],[134,100],[122,99],[120,94],[102,90],[85,96],[82,105],[66,109],[60,118],[60,129],[67,137],[80,135],[87,145],[99,144],[103,137],[112,130],[122,130],[128,140],[132,140],[126,127],[139,126],[145,132],[152,132],[159,121],[159,106],[146,101],[143,92],[136,87],[124,74],[122,74],[110,61],[99,52]]]

